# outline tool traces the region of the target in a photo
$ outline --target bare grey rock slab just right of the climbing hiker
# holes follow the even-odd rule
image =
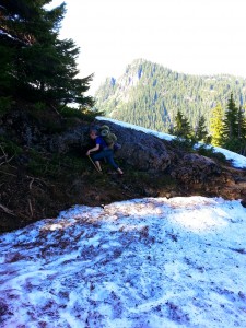
[[[102,125],[99,121],[98,124]],[[168,142],[152,134],[121,127],[112,121],[103,121],[118,137],[121,149],[116,156],[138,169],[150,173],[168,172],[184,184],[206,183],[219,176],[222,168],[213,160],[198,154],[175,151]]]

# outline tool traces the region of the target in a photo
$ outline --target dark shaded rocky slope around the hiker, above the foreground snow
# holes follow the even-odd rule
[[[66,126],[54,117],[52,124]],[[98,174],[85,155],[92,145],[90,127],[105,124],[121,144],[115,160],[122,177],[106,163],[104,174]],[[50,133],[19,112],[1,119],[0,133],[0,232],[55,218],[73,204],[191,195],[246,198],[245,171],[112,121],[78,119]]]

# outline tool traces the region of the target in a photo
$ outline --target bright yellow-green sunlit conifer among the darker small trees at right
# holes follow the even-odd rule
[[[223,128],[223,109],[221,104],[212,109],[212,116],[210,118],[210,132],[212,134],[211,144],[222,145],[222,128]]]

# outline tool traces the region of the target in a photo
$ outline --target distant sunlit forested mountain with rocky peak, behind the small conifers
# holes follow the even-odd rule
[[[119,78],[108,78],[95,94],[96,108],[108,117],[167,132],[179,108],[196,127],[216,104],[225,108],[231,93],[246,103],[246,79],[233,75],[189,75],[143,59]]]

